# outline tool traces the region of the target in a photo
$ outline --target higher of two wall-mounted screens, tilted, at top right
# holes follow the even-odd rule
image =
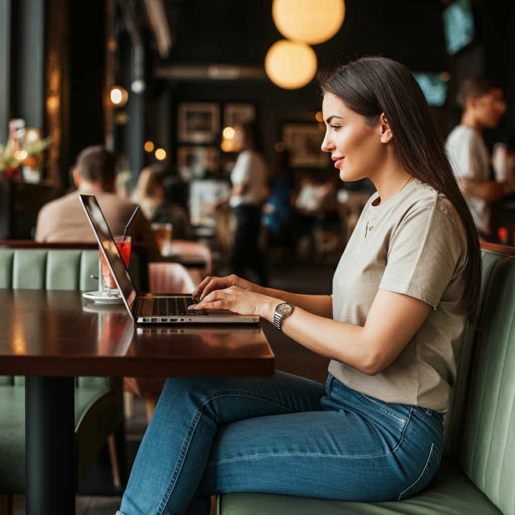
[[[474,15],[470,0],[456,0],[443,10],[447,53],[456,54],[474,39]]]

